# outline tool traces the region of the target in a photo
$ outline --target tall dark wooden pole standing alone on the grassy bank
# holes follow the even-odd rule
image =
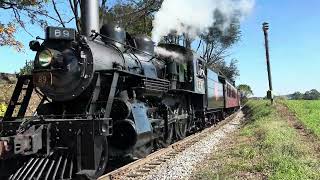
[[[271,104],[273,104],[272,79],[271,79],[270,55],[269,55],[269,40],[268,40],[269,23],[264,22],[262,24],[262,29],[263,29],[263,33],[264,33],[264,41],[265,41],[265,48],[266,48],[266,59],[267,59],[267,69],[268,69],[268,80],[269,80],[269,91],[267,92],[267,98],[270,99]]]

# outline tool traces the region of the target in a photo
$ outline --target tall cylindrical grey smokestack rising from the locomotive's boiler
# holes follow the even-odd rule
[[[99,2],[98,0],[81,1],[82,34],[90,36],[91,31],[99,32]]]

